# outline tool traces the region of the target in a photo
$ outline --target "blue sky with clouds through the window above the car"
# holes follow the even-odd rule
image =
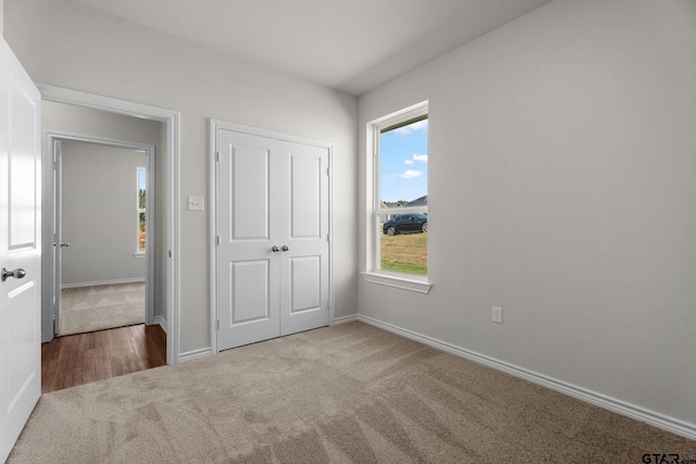
[[[427,195],[427,120],[382,134],[380,156],[380,200]]]

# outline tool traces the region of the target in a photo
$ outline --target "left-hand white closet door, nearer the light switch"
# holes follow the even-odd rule
[[[281,335],[279,142],[219,131],[217,258],[219,349]]]

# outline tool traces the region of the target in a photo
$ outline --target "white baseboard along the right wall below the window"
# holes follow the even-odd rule
[[[688,423],[675,419],[673,417],[669,417],[652,411],[648,411],[644,407],[641,407],[634,404],[624,403],[623,401],[619,401],[613,398],[609,398],[604,394],[586,390],[582,387],[567,384],[564,381],[557,380],[555,378],[550,378],[545,375],[537,374],[535,372],[527,371],[522,367],[517,367],[514,365],[504,363],[501,361],[485,356],[483,354],[478,354],[473,351],[465,350],[455,344],[436,340],[434,338],[426,337],[424,335],[417,334],[411,330],[406,330],[400,327],[394,326],[391,324],[386,324],[377,319],[373,319],[372,317],[358,315],[356,319],[375,327],[380,327],[393,334],[400,335],[401,337],[418,341],[420,343],[427,344],[428,347],[433,347],[435,349],[446,351],[448,353],[455,354],[460,358],[464,358],[475,363],[483,364],[488,367],[493,367],[506,374],[510,374],[515,377],[522,378],[524,380],[529,380],[533,384],[537,384],[543,387],[549,388],[551,390],[558,391],[560,393],[568,394],[570,397],[576,398],[581,401],[585,401],[596,406],[612,411],[614,413],[631,417],[636,421],[644,422],[646,424],[661,428],[672,434],[680,435],[691,440],[696,440],[695,424],[688,424]]]

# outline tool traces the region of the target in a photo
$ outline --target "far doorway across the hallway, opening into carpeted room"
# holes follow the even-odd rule
[[[47,140],[53,334],[152,324],[154,147],[52,133]]]

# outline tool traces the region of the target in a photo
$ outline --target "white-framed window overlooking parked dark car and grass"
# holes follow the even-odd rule
[[[427,102],[372,122],[365,279],[427,292]],[[415,285],[415,288],[412,288]],[[423,284],[423,285],[419,285]]]

